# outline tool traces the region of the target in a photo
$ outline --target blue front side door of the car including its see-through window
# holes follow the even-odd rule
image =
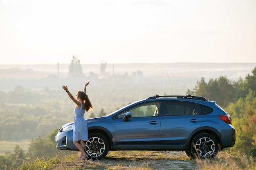
[[[115,140],[117,145],[158,145],[160,144],[160,102],[146,102],[131,106],[115,119]],[[123,121],[124,113],[131,117]]]

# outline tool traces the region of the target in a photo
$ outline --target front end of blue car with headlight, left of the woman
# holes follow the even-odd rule
[[[73,144],[73,130],[58,132],[55,136],[56,148],[61,150],[78,150]]]

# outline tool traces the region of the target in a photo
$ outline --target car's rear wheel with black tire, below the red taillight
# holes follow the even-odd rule
[[[217,139],[208,133],[195,136],[191,142],[191,153],[195,158],[214,158],[218,151]]]

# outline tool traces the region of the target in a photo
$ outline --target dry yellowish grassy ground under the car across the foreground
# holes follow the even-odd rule
[[[79,152],[37,158],[16,170],[255,170],[252,157],[219,152],[214,159],[189,159],[184,152],[111,151],[101,160],[76,161]],[[4,167],[4,170],[13,170]]]

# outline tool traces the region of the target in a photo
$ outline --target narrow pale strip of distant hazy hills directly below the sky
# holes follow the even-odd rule
[[[20,70],[32,69],[34,71],[54,72],[58,70],[62,73],[69,71],[69,64],[0,64],[0,70],[11,70],[19,68]],[[81,63],[80,63],[81,64]],[[89,73],[93,71],[98,73],[102,63],[97,64],[81,64],[83,72]],[[106,71],[117,71],[119,73],[133,71],[146,71],[151,74],[155,73],[182,73],[184,71],[247,71],[251,73],[252,69],[256,67],[256,63],[106,63]],[[154,69],[152,69],[154,68]],[[145,72],[145,73],[146,73]]]

